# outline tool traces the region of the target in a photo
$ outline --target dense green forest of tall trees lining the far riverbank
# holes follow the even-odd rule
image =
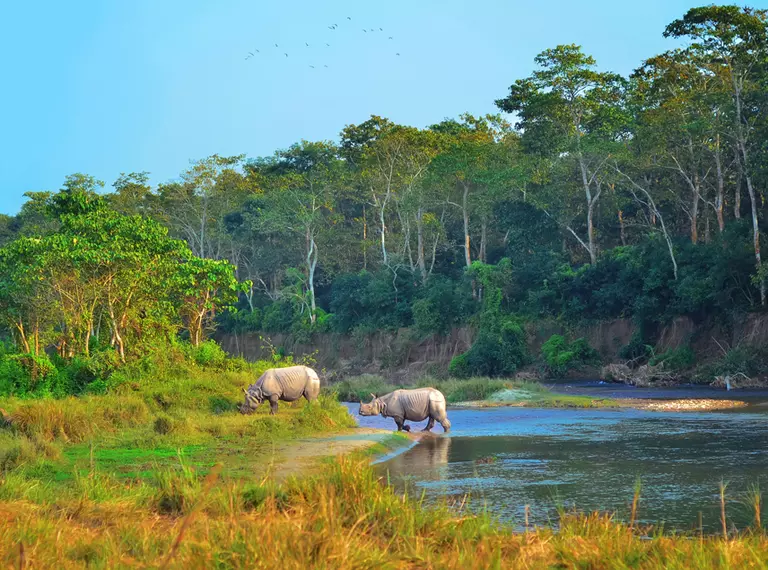
[[[542,52],[499,114],[371,116],[335,141],[214,155],[152,188],[83,174],[0,218],[0,316],[32,355],[124,361],[185,331],[471,322],[456,369],[524,361],[521,319],[733,317],[766,305],[768,11],[708,6],[629,77]],[[231,310],[223,310],[223,309]],[[467,368],[468,367],[468,368]]]

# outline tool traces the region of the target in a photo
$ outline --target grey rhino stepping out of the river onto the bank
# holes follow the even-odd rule
[[[445,396],[435,388],[417,388],[416,390],[395,390],[385,396],[377,398],[371,394],[373,400],[369,404],[360,403],[361,416],[382,415],[385,418],[393,418],[397,424],[397,431],[411,431],[405,421],[422,422],[429,418],[424,431],[430,431],[435,422],[440,422],[443,431],[451,429],[451,422],[445,411]]]

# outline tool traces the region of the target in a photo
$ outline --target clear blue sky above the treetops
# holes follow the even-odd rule
[[[705,3],[6,0],[0,213],[74,172],[109,188],[149,171],[156,184],[191,159],[335,139],[371,114],[426,126],[495,112],[533,57],[561,43],[628,73],[672,47],[668,22]]]

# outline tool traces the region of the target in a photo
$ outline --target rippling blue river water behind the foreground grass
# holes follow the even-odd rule
[[[361,426],[395,427],[348,406]],[[526,505],[533,524],[556,523],[558,508],[615,512],[626,520],[638,479],[642,523],[690,530],[701,512],[704,529],[715,531],[725,482],[728,519],[743,527],[753,516],[744,504],[747,491],[753,485],[768,491],[768,405],[757,397],[728,412],[449,408],[448,415],[450,437],[424,440],[377,469],[400,491],[427,501],[469,495],[470,509],[487,509],[518,527]]]

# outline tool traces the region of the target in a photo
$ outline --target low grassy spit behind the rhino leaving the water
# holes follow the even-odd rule
[[[449,404],[480,406],[531,406],[543,408],[595,408],[616,406],[604,398],[556,394],[538,382],[470,378],[468,380],[437,380],[422,378],[412,385],[392,384],[381,376],[363,375],[333,384],[329,392],[346,402],[368,401],[371,394],[380,396],[398,388],[432,386],[440,390]]]

